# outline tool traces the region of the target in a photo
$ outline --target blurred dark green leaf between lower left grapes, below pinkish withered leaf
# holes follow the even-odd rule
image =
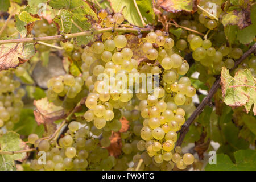
[[[38,123],[35,121],[34,110],[32,109],[22,109],[19,122],[15,123],[13,130],[25,136],[35,133],[42,137],[44,133],[43,125],[38,126]]]

